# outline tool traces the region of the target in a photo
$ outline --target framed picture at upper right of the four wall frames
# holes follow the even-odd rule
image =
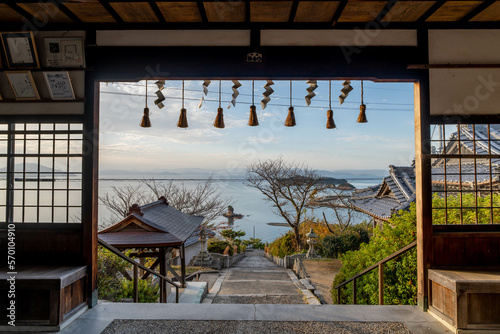
[[[85,50],[82,37],[43,39],[45,66],[49,68],[84,68]]]

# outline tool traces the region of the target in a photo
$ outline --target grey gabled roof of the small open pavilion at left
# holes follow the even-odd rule
[[[203,219],[176,210],[162,197],[133,205],[126,218],[99,232],[99,237],[117,247],[176,246],[185,243]]]

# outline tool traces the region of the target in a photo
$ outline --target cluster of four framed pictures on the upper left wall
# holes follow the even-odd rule
[[[35,39],[32,32],[5,32],[0,39],[5,59],[2,63],[0,57],[0,69],[5,69],[0,73],[0,101],[77,100],[68,70],[73,75],[85,68],[82,36]]]

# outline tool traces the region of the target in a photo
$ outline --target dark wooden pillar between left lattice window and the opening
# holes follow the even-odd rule
[[[99,83],[85,72],[85,114],[83,121],[82,228],[83,259],[88,266],[89,307],[97,304],[97,207],[99,185]]]

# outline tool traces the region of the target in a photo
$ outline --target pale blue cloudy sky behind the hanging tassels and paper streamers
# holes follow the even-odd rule
[[[233,170],[260,159],[276,158],[306,163],[315,169],[384,169],[409,165],[414,158],[413,84],[364,81],[368,123],[357,123],[360,81],[344,104],[338,96],[342,81],[332,81],[332,108],[337,129],[327,130],[328,81],[319,80],[309,107],[305,80],[293,82],[297,126],[283,125],[288,113],[289,81],[275,80],[274,93],[265,110],[260,100],[264,80],[255,81],[255,104],[260,126],[247,125],[252,82],[241,80],[236,107],[230,80],[222,81],[222,107],[226,128],[213,122],[218,107],[218,80],[212,80],[201,109],[202,81],[185,82],[185,107],[189,127],[177,128],[181,109],[181,81],[167,81],[165,108],[153,101],[157,90],[148,81],[151,128],[139,123],[145,105],[145,81],[101,84],[101,170],[150,170],[205,168]]]

